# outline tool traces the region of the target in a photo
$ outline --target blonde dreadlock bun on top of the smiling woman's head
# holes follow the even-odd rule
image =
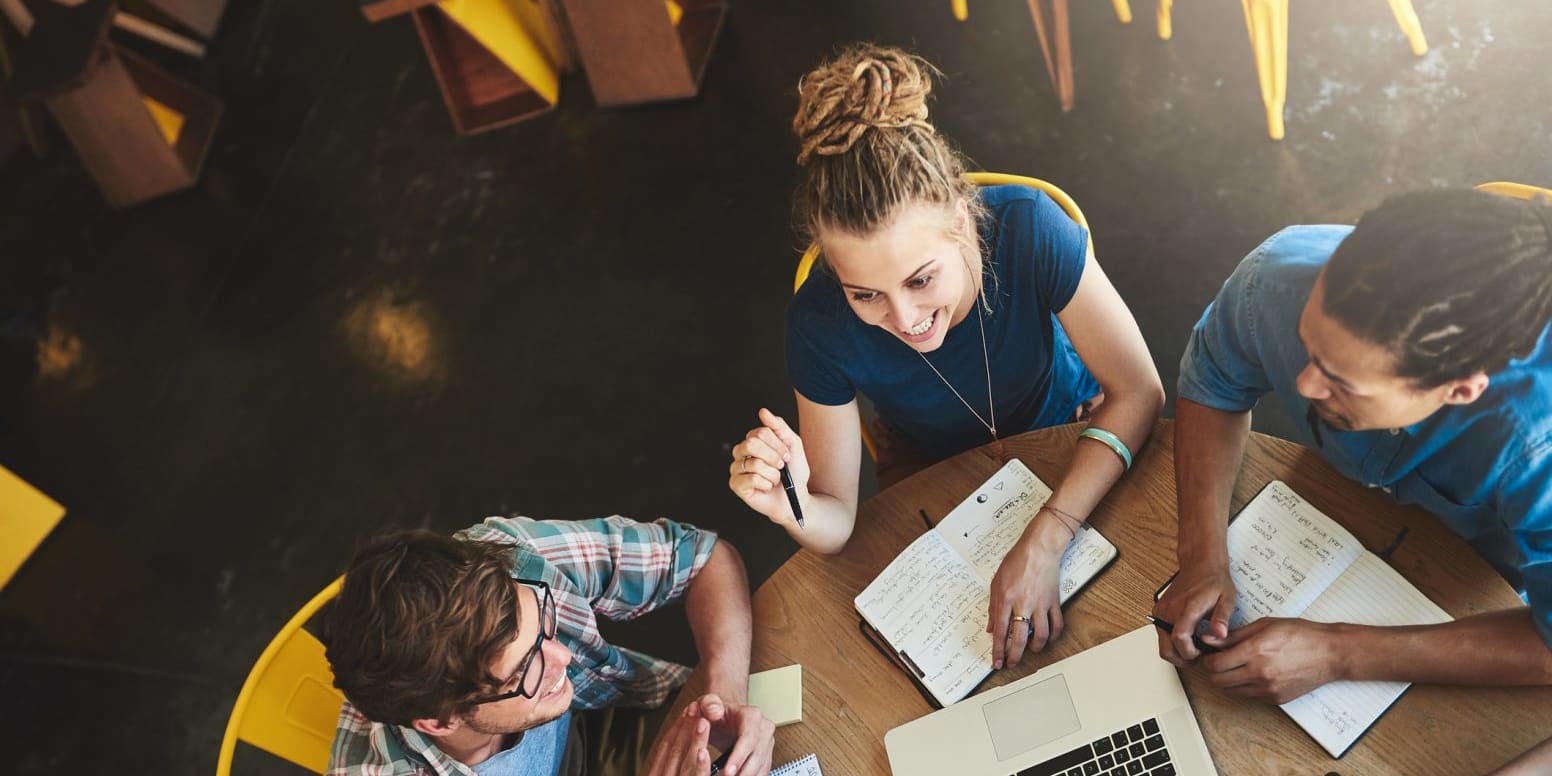
[[[917,127],[927,121],[933,65],[899,48],[858,43],[798,82],[798,165],[850,151],[871,129]]]

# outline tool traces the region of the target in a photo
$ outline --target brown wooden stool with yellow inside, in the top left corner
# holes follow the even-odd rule
[[[11,88],[42,102],[115,208],[199,180],[220,102],[107,40],[113,0],[37,6]]]

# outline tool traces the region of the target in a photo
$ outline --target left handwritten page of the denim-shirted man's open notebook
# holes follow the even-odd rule
[[[1234,615],[1229,629],[1265,616],[1294,618],[1364,549],[1332,518],[1273,480],[1229,523]]]

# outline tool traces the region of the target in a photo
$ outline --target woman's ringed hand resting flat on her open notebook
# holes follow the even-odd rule
[[[986,630],[992,633],[992,667],[1018,663],[1062,635],[1062,553],[1074,532],[1044,509],[1003,556],[992,577]],[[1020,619],[1013,619],[1020,618]]]

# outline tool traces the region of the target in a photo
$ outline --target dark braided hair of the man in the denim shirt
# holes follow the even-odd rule
[[[1325,265],[1324,312],[1434,388],[1529,355],[1552,320],[1552,202],[1419,191],[1358,220]]]

